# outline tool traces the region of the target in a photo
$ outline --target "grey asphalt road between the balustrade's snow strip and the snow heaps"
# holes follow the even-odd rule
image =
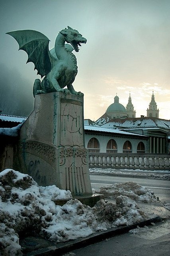
[[[103,176],[103,175],[90,175],[92,188],[95,190],[102,186],[107,186],[119,182],[133,181],[141,186],[150,188],[158,196],[161,201],[170,200],[170,181],[168,180],[151,180],[143,178],[129,178],[129,177],[116,177],[116,176]]]

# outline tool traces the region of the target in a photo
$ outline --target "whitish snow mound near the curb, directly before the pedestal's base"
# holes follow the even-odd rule
[[[107,223],[98,222],[89,206],[79,200],[69,200],[64,206],[56,206],[49,224],[43,230],[45,237],[57,242],[86,237],[98,230],[106,230]]]

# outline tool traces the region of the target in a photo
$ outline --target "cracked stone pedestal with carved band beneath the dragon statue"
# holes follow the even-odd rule
[[[41,186],[55,184],[73,196],[92,195],[84,145],[83,96],[39,94],[21,127],[14,165]]]

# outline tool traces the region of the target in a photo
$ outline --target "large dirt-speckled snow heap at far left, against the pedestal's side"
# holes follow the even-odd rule
[[[0,248],[4,255],[20,255],[21,232],[41,231],[55,212],[53,200],[72,198],[56,186],[39,187],[27,174],[11,169],[0,173]]]

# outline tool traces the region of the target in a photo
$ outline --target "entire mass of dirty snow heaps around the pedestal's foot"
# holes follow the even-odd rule
[[[12,169],[0,173],[0,250],[4,256],[22,255],[22,234],[56,242],[86,237],[98,230],[139,223],[147,219],[137,202],[156,202],[154,193],[135,182],[103,187],[115,203],[100,200],[90,208],[72,199],[69,190],[38,186],[27,174]],[[68,200],[63,206],[56,200]]]

